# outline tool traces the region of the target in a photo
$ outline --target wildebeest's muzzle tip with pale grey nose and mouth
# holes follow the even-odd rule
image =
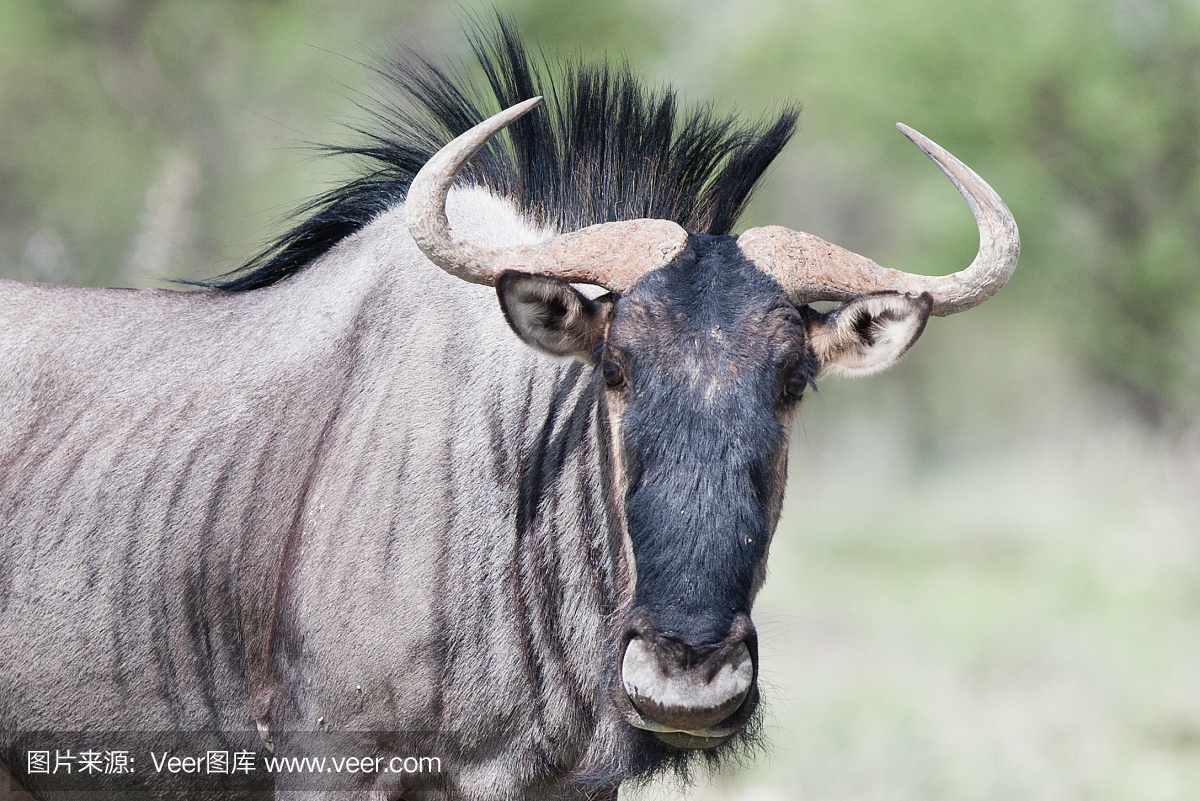
[[[652,642],[634,637],[620,679],[637,711],[661,725],[697,731],[732,715],[754,686],[754,660],[743,640],[719,660],[684,667]]]

